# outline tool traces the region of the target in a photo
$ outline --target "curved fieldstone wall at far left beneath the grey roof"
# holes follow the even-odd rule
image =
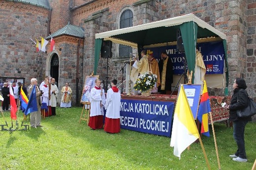
[[[18,2],[0,3],[0,75],[42,80],[43,53],[30,40],[47,34],[48,10]]]

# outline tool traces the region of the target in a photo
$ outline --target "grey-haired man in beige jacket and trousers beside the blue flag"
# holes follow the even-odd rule
[[[31,79],[31,86],[29,88],[29,96],[32,93],[33,87],[35,85],[35,93],[36,93],[36,104],[37,104],[37,111],[30,113],[30,124],[32,128],[36,128],[36,127],[43,127],[41,125],[41,105],[42,105],[42,101],[40,96],[41,91],[39,90],[38,86],[37,86],[37,80],[35,78]]]

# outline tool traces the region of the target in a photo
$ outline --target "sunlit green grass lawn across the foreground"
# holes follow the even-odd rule
[[[82,107],[57,108],[57,116],[42,119],[44,127],[29,131],[0,131],[0,170],[207,170],[200,143],[173,155],[170,138],[121,129],[108,134],[78,123]],[[10,113],[4,112],[10,126]],[[23,118],[19,113],[21,124]],[[29,124],[29,121],[25,122]],[[0,116],[0,124],[4,124]],[[232,128],[215,123],[215,134],[222,170],[251,170],[256,159],[256,123],[246,126],[248,162],[228,157],[236,144]],[[211,126],[210,126],[211,129]],[[212,129],[211,129],[212,130]],[[202,137],[212,170],[218,170],[214,139]]]

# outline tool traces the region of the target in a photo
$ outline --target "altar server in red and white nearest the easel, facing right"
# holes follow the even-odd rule
[[[103,107],[105,107],[106,97],[104,89],[100,87],[100,83],[101,81],[96,79],[95,87],[90,92],[91,113],[89,126],[94,130],[103,128]]]

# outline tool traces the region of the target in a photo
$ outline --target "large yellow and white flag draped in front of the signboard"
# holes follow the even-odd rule
[[[171,143],[174,147],[173,154],[181,159],[181,153],[199,138],[194,117],[185,94],[184,86],[181,85],[175,106]]]

